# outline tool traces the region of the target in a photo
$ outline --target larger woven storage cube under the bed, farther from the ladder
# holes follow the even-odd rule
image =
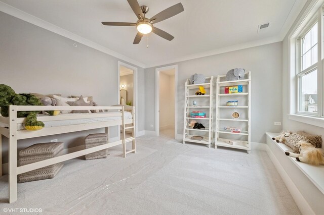
[[[19,151],[18,163],[19,166],[23,166],[48,158],[60,156],[62,154],[63,142],[38,143]],[[59,163],[19,174],[18,183],[54,178],[62,167],[63,163]]]

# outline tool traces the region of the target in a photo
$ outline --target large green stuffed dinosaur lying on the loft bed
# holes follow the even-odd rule
[[[0,84],[0,113],[3,117],[9,117],[9,105],[43,105],[43,103],[34,95],[17,94],[10,86]],[[19,111],[17,117],[26,117],[25,128],[35,131],[44,128],[44,123],[37,121],[38,113],[40,111]]]

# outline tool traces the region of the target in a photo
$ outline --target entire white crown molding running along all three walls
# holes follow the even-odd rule
[[[316,1],[316,0],[313,0],[313,1]],[[298,2],[302,2],[303,4],[296,4]],[[23,12],[23,11],[21,11],[17,8],[14,8],[10,5],[7,5],[3,2],[0,2],[0,11],[4,12],[6,14],[9,14],[11,16],[14,16],[18,19],[21,19],[23,21],[29,22],[33,25],[38,26],[38,27],[52,31],[56,34],[59,34],[66,38],[69,38],[73,41],[82,43],[84,45],[87,45],[87,46],[97,49],[99,51],[102,51],[102,52],[104,52],[110,56],[113,56],[115,58],[118,58],[120,60],[126,61],[128,63],[134,64],[136,66],[146,69],[146,68],[158,67],[158,66],[163,66],[163,65],[168,65],[168,64],[175,64],[178,62],[193,60],[193,59],[197,59],[197,58],[204,58],[204,57],[208,57],[208,56],[219,55],[221,53],[236,51],[236,50],[250,48],[250,47],[256,47],[256,46],[260,46],[260,45],[266,45],[266,44],[270,44],[270,43],[274,43],[274,42],[280,42],[285,38],[285,36],[289,32],[290,28],[292,27],[293,23],[295,22],[296,18],[298,17],[300,11],[302,10],[302,8],[304,7],[306,2],[307,2],[307,0],[295,0],[295,3],[293,5],[291,11],[287,15],[285,23],[282,25],[281,31],[275,37],[266,38],[266,39],[262,39],[262,40],[249,41],[246,43],[241,43],[241,44],[236,44],[236,45],[227,46],[227,47],[221,47],[221,48],[217,48],[217,49],[213,49],[213,50],[209,50],[209,51],[205,51],[205,52],[195,53],[193,55],[183,56],[183,57],[175,58],[175,59],[168,60],[168,61],[154,62],[154,63],[149,63],[149,64],[144,64],[144,63],[138,62],[134,59],[131,59],[129,57],[126,57],[124,55],[121,55],[120,53],[118,53],[116,51],[113,51],[113,50],[106,48],[98,43],[95,43],[91,40],[88,40],[84,37],[76,35],[70,31],[67,31],[63,28],[56,26],[56,25],[53,25],[47,21],[44,21],[44,20],[39,19],[35,16],[32,16],[26,12]]]

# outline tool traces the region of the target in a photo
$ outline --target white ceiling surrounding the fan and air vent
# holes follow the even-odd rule
[[[137,21],[126,0],[0,0],[0,11],[148,68],[281,41],[306,0],[138,2],[149,7],[148,18],[182,3],[184,12],[154,25],[173,35],[172,41],[150,33],[147,48],[147,36],[133,44],[135,26],[103,26],[102,21]]]

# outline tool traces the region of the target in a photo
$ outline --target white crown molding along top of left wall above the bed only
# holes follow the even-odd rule
[[[63,28],[60,28],[60,27],[56,26],[56,25],[53,25],[53,24],[51,24],[51,23],[49,23],[49,22],[47,22],[45,20],[39,19],[39,18],[37,18],[35,16],[32,16],[32,15],[26,13],[26,12],[23,12],[23,11],[21,11],[21,10],[19,10],[17,8],[14,8],[14,7],[10,6],[10,5],[7,5],[7,4],[5,4],[3,2],[0,2],[0,11],[4,12],[6,14],[9,14],[9,15],[11,15],[13,17],[16,17],[18,19],[21,19],[23,21],[29,22],[29,23],[31,23],[33,25],[38,26],[38,27],[41,27],[41,28],[44,28],[46,30],[52,31],[52,32],[54,32],[54,33],[56,33],[58,35],[64,36],[64,37],[69,38],[69,39],[71,39],[73,41],[76,41],[76,42],[82,43],[84,45],[87,45],[87,46],[89,46],[91,48],[97,49],[97,50],[99,50],[101,52],[104,52],[104,53],[106,53],[106,54],[108,54],[110,56],[113,56],[115,58],[118,58],[120,60],[123,60],[123,61],[126,61],[128,63],[134,64],[136,66],[145,68],[145,65],[143,63],[141,63],[141,62],[138,62],[138,61],[136,61],[134,59],[128,58],[128,57],[126,57],[124,55],[121,55],[120,53],[118,53],[116,51],[113,51],[113,50],[111,50],[109,48],[106,48],[106,47],[104,47],[102,45],[99,45],[98,43],[95,43],[95,42],[93,42],[91,40],[88,40],[88,39],[86,39],[84,37],[76,35],[76,34],[70,32],[70,31],[67,31],[67,30],[65,30]]]

